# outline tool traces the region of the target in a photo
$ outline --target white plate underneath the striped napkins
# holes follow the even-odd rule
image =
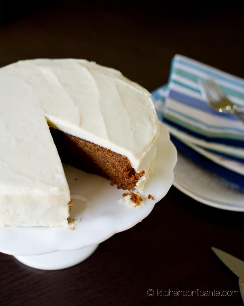
[[[178,152],[173,185],[193,199],[221,209],[244,211],[244,189],[196,165]]]

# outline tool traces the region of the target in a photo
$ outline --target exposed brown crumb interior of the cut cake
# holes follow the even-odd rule
[[[105,177],[118,189],[135,188],[145,174],[145,171],[137,173],[124,155],[52,127],[50,131],[63,163]]]

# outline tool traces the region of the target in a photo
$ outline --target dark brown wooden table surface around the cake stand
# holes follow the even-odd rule
[[[0,28],[0,66],[27,58],[87,58],[151,91],[167,82],[171,58],[179,53],[244,77],[238,10],[174,9],[56,3]],[[210,246],[244,259],[243,217],[172,187],[143,222],[101,243],[75,267],[35,270],[0,254],[0,306],[241,305],[240,294],[166,297],[157,290],[238,290],[238,278]]]

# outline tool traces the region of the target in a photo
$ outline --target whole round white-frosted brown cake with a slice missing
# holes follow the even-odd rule
[[[71,204],[62,162],[143,192],[156,155],[149,92],[81,59],[0,69],[0,225],[64,226]]]

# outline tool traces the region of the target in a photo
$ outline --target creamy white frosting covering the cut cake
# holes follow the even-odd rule
[[[152,166],[158,121],[147,90],[115,69],[86,60],[20,61],[0,69],[0,195],[5,196],[0,205],[8,199],[13,203],[13,194],[31,195],[27,201],[33,202],[38,195],[51,199],[62,193],[63,212],[57,218],[67,215],[69,188],[47,122],[125,155],[148,176],[150,169],[141,167]],[[49,202],[43,219],[53,218]],[[0,208],[0,215],[9,213]],[[56,223],[51,225],[62,225]]]

